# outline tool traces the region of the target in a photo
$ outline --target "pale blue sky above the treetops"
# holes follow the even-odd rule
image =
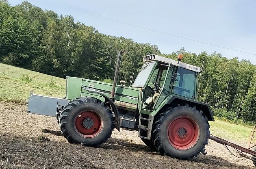
[[[11,5],[23,0],[8,0]],[[27,0],[106,35],[256,64],[255,0]]]

